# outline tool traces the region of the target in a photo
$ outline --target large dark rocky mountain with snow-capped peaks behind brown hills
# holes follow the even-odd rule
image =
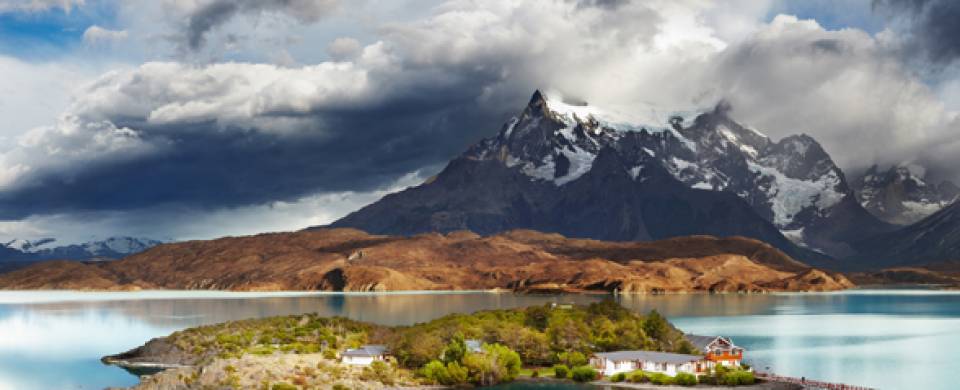
[[[774,142],[722,104],[699,115],[636,112],[537,92],[437,177],[333,226],[389,234],[532,228],[606,240],[742,235],[814,265],[893,228],[860,206],[809,136]]]

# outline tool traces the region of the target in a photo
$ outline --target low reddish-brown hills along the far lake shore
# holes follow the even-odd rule
[[[604,242],[510,231],[413,237],[321,229],[163,244],[102,263],[49,262],[0,289],[824,291],[852,286],[763,242]]]

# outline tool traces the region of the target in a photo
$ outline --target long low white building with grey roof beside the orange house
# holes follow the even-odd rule
[[[670,376],[681,372],[697,375],[706,371],[708,364],[703,356],[654,351],[601,352],[590,358],[590,365],[604,376],[636,370]]]

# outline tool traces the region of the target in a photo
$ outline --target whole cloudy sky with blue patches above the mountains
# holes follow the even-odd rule
[[[0,0],[0,241],[326,224],[536,89],[960,177],[950,0]]]

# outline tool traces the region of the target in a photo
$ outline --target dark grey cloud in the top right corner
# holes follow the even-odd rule
[[[922,55],[938,66],[960,57],[960,1],[875,0],[873,4],[907,23],[908,55]]]

